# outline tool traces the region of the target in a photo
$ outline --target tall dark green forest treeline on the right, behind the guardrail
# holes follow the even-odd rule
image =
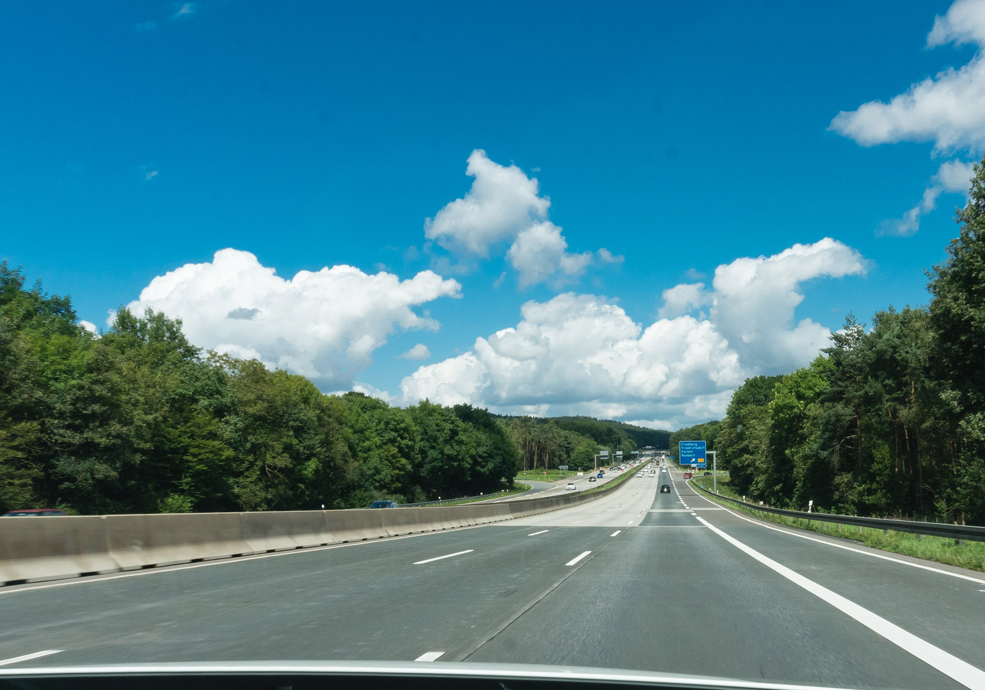
[[[672,452],[710,442],[732,488],[781,508],[985,524],[982,165],[957,222],[927,307],[890,307],[869,328],[849,314],[810,366],[746,380],[723,420],[676,432]]]

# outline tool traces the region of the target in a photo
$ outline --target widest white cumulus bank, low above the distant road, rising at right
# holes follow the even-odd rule
[[[700,284],[669,291],[676,305],[710,304],[709,317],[675,308],[646,328],[594,295],[531,301],[515,326],[405,378],[403,399],[516,414],[631,415],[669,427],[720,416],[746,377],[803,366],[827,344],[826,328],[794,322],[800,284],[864,272],[857,251],[829,239],[740,258],[718,267],[711,291]]]

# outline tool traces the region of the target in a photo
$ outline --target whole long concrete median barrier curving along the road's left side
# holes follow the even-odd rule
[[[558,511],[618,491],[461,506],[0,518],[0,585],[416,534]]]

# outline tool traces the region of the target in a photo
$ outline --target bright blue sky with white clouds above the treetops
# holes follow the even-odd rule
[[[231,247],[256,266],[236,254],[239,277],[210,269],[208,286],[195,281],[209,271],[189,268],[139,306],[325,390],[699,421],[744,376],[810,361],[817,332],[796,331],[802,319],[837,328],[848,311],[927,302],[923,270],[944,257],[963,199],[942,165],[981,155],[982,117],[949,120],[932,82],[916,105],[832,119],[973,67],[980,7],[4,3],[0,259],[104,328],[156,277]],[[928,47],[936,17],[950,23]],[[447,234],[426,245],[426,219],[476,198],[476,150],[491,175],[512,165],[514,181],[536,178],[533,198],[549,206],[518,208],[537,242],[563,238],[569,273],[521,287],[536,238],[496,225],[498,191],[473,219],[496,242],[465,247],[461,218],[446,214]],[[824,238],[835,244],[816,245]],[[797,244],[814,247],[811,267],[782,254]],[[769,274],[761,290],[712,290],[717,267],[741,273],[737,259],[760,256],[801,268],[777,268],[787,277]],[[248,277],[337,265],[365,274],[352,289],[368,301],[347,300],[348,315],[335,277],[287,295]],[[428,269],[443,282],[400,287]],[[365,282],[380,271],[395,278]],[[664,291],[697,282],[703,304],[668,307]],[[394,306],[408,291],[417,297]],[[544,308],[525,318],[531,301]],[[254,316],[216,326],[230,305]],[[661,315],[648,344],[642,331]],[[521,320],[516,342],[475,349]],[[756,332],[743,335],[744,322]],[[605,333],[586,336],[589,349],[564,344],[596,326]],[[354,345],[363,327],[371,337]],[[755,354],[740,336],[771,344]],[[398,357],[419,343],[427,358]]]

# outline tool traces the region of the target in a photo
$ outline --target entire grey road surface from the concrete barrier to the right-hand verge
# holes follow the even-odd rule
[[[985,669],[985,574],[770,528],[679,477],[632,477],[611,496],[505,524],[0,589],[0,663],[51,649],[63,652],[15,665],[441,652],[837,687],[985,687],[927,662],[941,664],[937,650]],[[675,490],[657,493],[663,483]],[[698,518],[929,645],[893,644]]]

